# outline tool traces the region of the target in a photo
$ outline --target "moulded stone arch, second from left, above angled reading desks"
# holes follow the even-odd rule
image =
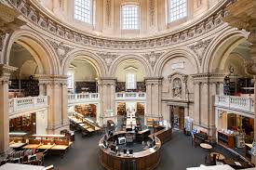
[[[67,57],[65,59],[63,59],[63,64],[62,64],[62,73],[63,74],[67,74],[70,63],[72,62],[72,60],[74,60],[77,57],[83,57],[84,59],[88,60],[88,62],[96,70],[99,77],[105,76],[106,66],[102,62],[101,58],[91,52],[86,51],[86,50],[71,51],[70,53],[67,54]]]

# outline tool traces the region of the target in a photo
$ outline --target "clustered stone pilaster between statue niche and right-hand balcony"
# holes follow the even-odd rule
[[[215,137],[215,95],[222,94],[218,87],[222,85],[225,73],[194,74],[195,85],[195,125],[203,128],[209,136]]]

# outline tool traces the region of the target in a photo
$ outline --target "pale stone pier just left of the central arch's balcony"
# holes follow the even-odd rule
[[[100,94],[100,108],[101,108],[101,121],[100,124],[105,124],[104,118],[104,112],[106,110],[113,110],[115,113],[115,83],[116,78],[115,77],[100,77],[98,80],[98,89]],[[116,119],[113,120],[116,123]]]

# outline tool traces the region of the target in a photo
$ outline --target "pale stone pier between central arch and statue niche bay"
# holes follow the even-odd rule
[[[163,77],[146,77],[146,112],[145,118],[162,120],[162,80]],[[146,121],[146,120],[145,120]]]

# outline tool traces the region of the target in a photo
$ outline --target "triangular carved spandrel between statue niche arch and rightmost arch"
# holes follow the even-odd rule
[[[202,60],[204,57],[204,54],[206,52],[207,47],[209,46],[209,43],[212,41],[212,38],[206,41],[199,41],[193,46],[189,46],[197,55],[197,58],[200,62],[200,65],[202,64]]]

